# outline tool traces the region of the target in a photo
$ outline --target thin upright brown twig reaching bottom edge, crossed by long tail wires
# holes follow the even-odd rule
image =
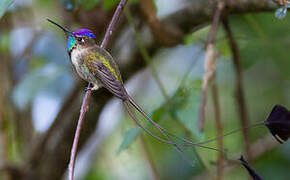
[[[221,121],[221,114],[220,114],[220,103],[218,99],[218,87],[216,83],[216,75],[213,77],[212,83],[212,99],[214,105],[214,119],[215,119],[215,126],[217,131],[217,136],[223,135],[223,124]],[[224,149],[223,145],[223,138],[218,139],[218,149]],[[224,153],[219,152],[218,159],[217,159],[217,180],[223,179],[223,170],[224,170]]]

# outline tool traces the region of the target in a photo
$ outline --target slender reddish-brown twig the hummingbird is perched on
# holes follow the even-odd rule
[[[101,48],[107,47],[107,45],[110,41],[110,38],[113,34],[113,31],[115,29],[115,26],[116,26],[116,24],[121,16],[121,13],[124,9],[124,6],[126,5],[126,2],[127,2],[127,0],[120,0],[120,3],[118,4],[118,6],[115,10],[115,13],[112,17],[112,20],[111,20],[111,22],[106,30],[106,34],[105,34],[104,39],[102,41],[102,44],[100,46]],[[90,96],[92,94],[91,90],[89,90],[89,87],[91,87],[91,83],[89,83],[88,91],[86,92],[85,97],[83,99],[83,103],[82,103],[81,110],[80,110],[80,116],[78,119],[77,129],[76,129],[75,136],[74,136],[73,146],[71,149],[71,156],[70,156],[70,162],[69,162],[69,167],[68,167],[70,180],[74,179],[74,167],[75,167],[75,159],[76,159],[76,153],[77,153],[77,148],[78,148],[78,141],[79,141],[80,132],[81,132],[82,124],[84,121],[84,117],[85,117],[85,114],[88,110],[89,99],[90,99]]]

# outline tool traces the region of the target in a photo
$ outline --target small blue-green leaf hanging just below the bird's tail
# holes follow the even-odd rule
[[[134,140],[136,139],[137,135],[141,132],[141,129],[139,127],[134,127],[129,129],[126,134],[125,137],[121,143],[121,145],[119,146],[118,149],[118,154],[127,149],[129,147],[130,144],[132,144],[134,142]]]

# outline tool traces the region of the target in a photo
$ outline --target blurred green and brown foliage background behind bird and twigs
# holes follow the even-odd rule
[[[0,179],[67,178],[87,84],[71,68],[63,32],[46,18],[72,30],[89,28],[101,42],[117,4],[117,0],[0,1]],[[175,134],[194,142],[216,137],[212,83],[205,128],[198,129],[204,47],[216,10],[214,1],[131,0],[126,8],[132,19],[121,17],[108,50],[120,65],[129,93]],[[241,57],[249,124],[264,121],[275,104],[290,107],[290,16],[275,18],[277,8],[270,0],[231,1],[228,7]],[[226,133],[241,127],[237,75],[222,25],[215,40],[215,83]],[[277,143],[264,126],[248,133],[250,162],[256,171],[269,180],[289,179],[290,144]],[[90,99],[80,141],[77,179],[217,176],[217,152],[187,148],[191,167],[172,146],[137,128],[120,100],[104,89]],[[242,133],[225,137],[223,143],[228,160],[221,178],[246,179],[246,170],[231,160],[244,154]],[[208,146],[217,147],[217,143]]]

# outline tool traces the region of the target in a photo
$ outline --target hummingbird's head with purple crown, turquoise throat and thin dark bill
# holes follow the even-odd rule
[[[60,29],[62,29],[67,37],[67,51],[71,52],[74,48],[80,47],[85,48],[88,46],[95,45],[95,35],[92,33],[92,31],[88,29],[78,29],[76,31],[69,31],[65,27],[57,24],[56,22],[47,19],[50,23],[58,26]]]

